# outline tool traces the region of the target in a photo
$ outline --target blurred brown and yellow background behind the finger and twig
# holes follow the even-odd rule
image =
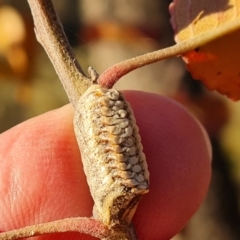
[[[99,73],[121,60],[174,44],[169,0],[54,0],[83,69]],[[94,6],[94,7],[92,7]],[[205,126],[213,146],[213,176],[199,211],[174,240],[240,239],[240,103],[209,92],[180,58],[136,70],[118,89],[176,99]],[[27,1],[0,0],[0,133],[68,103],[43,48]]]

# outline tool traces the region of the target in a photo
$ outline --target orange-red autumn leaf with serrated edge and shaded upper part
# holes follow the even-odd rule
[[[170,12],[176,42],[225,29],[218,38],[182,56],[193,78],[210,90],[240,99],[240,1],[175,0]]]

